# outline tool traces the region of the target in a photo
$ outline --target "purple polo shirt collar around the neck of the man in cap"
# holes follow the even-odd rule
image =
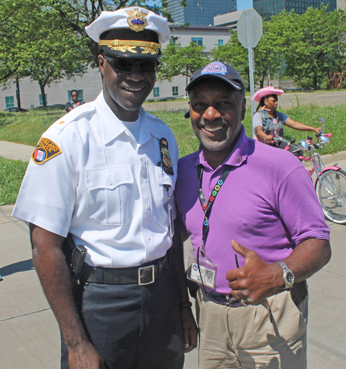
[[[198,157],[195,165],[202,164],[203,167],[210,168],[210,165],[204,160],[204,154],[202,145],[199,145]],[[248,137],[245,134],[245,127],[242,125],[242,130],[239,134],[239,138],[235,147],[233,147],[230,156],[220,165],[220,167],[224,165],[232,165],[234,167],[239,167],[242,165],[246,158],[248,157]],[[220,168],[219,167],[219,168]],[[217,168],[218,169],[218,168]]]

